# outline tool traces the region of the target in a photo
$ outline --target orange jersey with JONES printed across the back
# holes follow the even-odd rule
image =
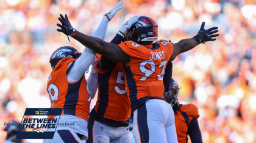
[[[130,56],[130,64],[124,65],[124,70],[132,110],[136,110],[148,99],[163,99],[163,75],[173,53],[171,42],[159,40],[144,46],[126,41],[119,44],[119,47]]]

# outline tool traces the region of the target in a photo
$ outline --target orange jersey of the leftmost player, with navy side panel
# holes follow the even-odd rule
[[[90,94],[87,91],[85,76],[77,82],[66,79],[66,71],[70,62],[76,59],[63,58],[52,70],[47,91],[51,99],[51,108],[63,108],[62,115],[73,115],[88,122],[90,110]]]

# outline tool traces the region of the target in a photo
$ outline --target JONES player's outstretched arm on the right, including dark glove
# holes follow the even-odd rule
[[[173,48],[172,48],[173,53],[171,58],[169,59],[169,62],[173,61],[176,58],[176,56],[179,55],[180,53],[187,52],[201,43],[204,44],[204,42],[216,40],[216,38],[213,38],[213,37],[216,37],[219,35],[218,34],[213,35],[213,34],[218,32],[218,30],[216,30],[218,29],[218,27],[212,27],[212,28],[209,28],[208,30],[205,30],[204,25],[205,25],[205,22],[202,22],[199,32],[193,38],[182,39],[176,44],[173,44]]]

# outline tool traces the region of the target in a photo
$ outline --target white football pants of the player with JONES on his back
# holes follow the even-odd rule
[[[133,111],[133,136],[137,143],[177,143],[172,107],[161,99],[149,99]]]

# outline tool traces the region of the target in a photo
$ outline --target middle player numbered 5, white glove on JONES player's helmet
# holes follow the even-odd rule
[[[121,33],[127,33],[127,29],[138,18],[140,16],[130,18],[111,42],[121,43],[124,37]],[[87,143],[130,142],[131,109],[124,81],[124,67],[121,62],[110,61],[102,55],[98,54],[97,58],[98,101],[89,116]]]

